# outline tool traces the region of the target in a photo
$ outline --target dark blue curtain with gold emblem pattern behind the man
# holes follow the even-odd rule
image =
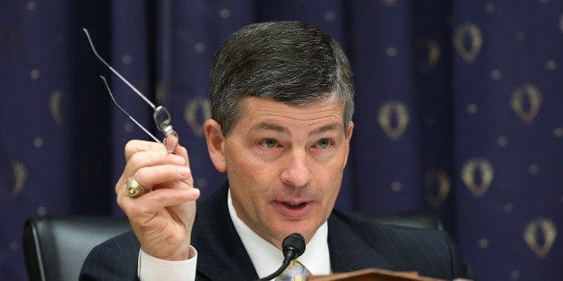
[[[338,208],[427,209],[481,280],[563,276],[563,2],[4,1],[0,4],[0,278],[27,279],[27,217],[122,216],[123,147],[151,107],[172,114],[196,186],[211,165],[202,124],[221,41],[256,21],[313,23],[345,48],[356,130]],[[153,132],[161,136],[160,132]]]

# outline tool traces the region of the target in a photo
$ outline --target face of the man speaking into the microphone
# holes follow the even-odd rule
[[[353,123],[344,128],[336,98],[307,106],[245,98],[240,106],[222,146],[238,217],[277,247],[294,232],[308,242],[333,209]]]

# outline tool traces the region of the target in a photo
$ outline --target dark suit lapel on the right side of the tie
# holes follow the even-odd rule
[[[334,273],[365,268],[393,269],[392,265],[351,230],[351,222],[333,214],[328,218],[328,249]]]

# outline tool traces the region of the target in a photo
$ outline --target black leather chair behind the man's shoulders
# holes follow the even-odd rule
[[[442,229],[429,212],[368,214],[384,224]],[[30,280],[77,280],[94,246],[131,230],[126,217],[35,217],[23,231],[25,266]]]

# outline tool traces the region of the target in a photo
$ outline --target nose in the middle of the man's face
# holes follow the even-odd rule
[[[281,172],[281,182],[291,187],[305,187],[310,183],[312,175],[307,165],[306,151],[292,151],[289,160]]]

